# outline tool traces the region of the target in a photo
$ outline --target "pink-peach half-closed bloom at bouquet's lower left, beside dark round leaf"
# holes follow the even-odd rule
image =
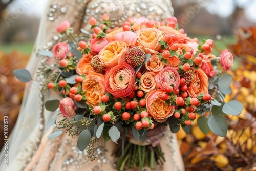
[[[63,98],[59,103],[59,109],[63,116],[67,118],[75,116],[75,102],[70,98]]]

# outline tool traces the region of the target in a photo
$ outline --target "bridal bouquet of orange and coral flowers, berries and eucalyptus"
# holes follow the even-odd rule
[[[61,41],[52,52],[39,52],[55,59],[51,65],[42,64],[42,91],[53,89],[62,97],[45,102],[47,110],[59,109],[63,116],[50,121],[59,131],[49,138],[62,132],[79,135],[78,148],[87,148],[92,159],[96,139],[121,142],[117,167],[122,170],[125,165],[141,169],[164,162],[159,146],[147,145],[147,151],[143,145],[126,143],[127,135],[145,142],[156,124],[168,125],[173,133],[180,127],[189,133],[198,113],[202,132],[226,136],[224,116],[239,115],[243,108],[238,101],[224,101],[231,93],[232,75],[224,73],[233,65],[230,52],[211,54],[214,42],[189,38],[178,29],[175,17],[161,23],[129,19],[110,29],[112,23],[103,15],[102,22],[91,18],[90,24],[94,33],[88,38],[75,36],[69,21],[61,23],[56,28]],[[32,79],[26,69],[14,74],[24,82]],[[139,159],[137,152],[143,153]]]

